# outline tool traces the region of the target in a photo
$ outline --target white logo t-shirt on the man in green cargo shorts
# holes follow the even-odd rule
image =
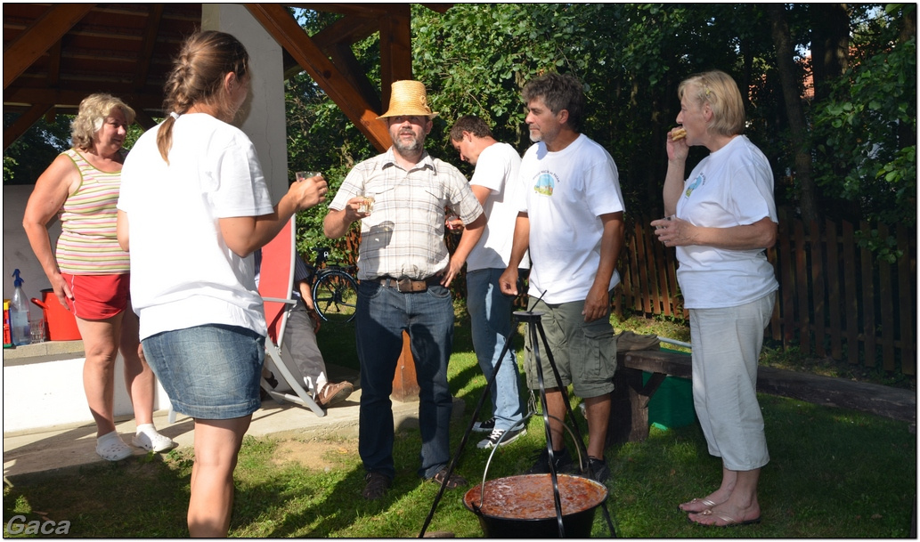
[[[524,152],[520,178],[518,210],[530,219],[529,295],[547,303],[587,298],[601,263],[600,217],[624,210],[614,159],[584,134],[558,152],[539,142]],[[614,271],[610,288],[619,282]]]

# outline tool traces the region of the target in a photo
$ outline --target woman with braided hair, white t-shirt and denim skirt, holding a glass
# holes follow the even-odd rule
[[[167,80],[167,119],[122,172],[118,236],[144,354],[173,409],[195,422],[191,536],[227,535],[236,457],[260,404],[267,328],[252,253],[327,192],[317,176],[271,205],[255,148],[231,125],[248,88],[236,38],[191,36]]]

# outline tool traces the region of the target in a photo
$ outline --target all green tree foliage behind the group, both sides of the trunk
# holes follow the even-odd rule
[[[816,197],[819,208],[829,209],[831,217],[893,223],[915,209],[914,147],[897,140],[905,126],[913,132],[916,123],[914,46],[896,40],[899,17],[910,6],[891,9],[891,14],[880,5],[846,9],[854,46],[850,70],[839,81],[828,82],[834,88],[828,102],[812,104],[803,97],[806,122],[815,135],[810,144],[818,167]],[[795,44],[795,91],[807,96],[807,51],[817,24],[814,18],[821,19],[822,12],[793,4],[786,17],[789,39]],[[822,27],[824,33],[833,29]],[[777,203],[796,209],[796,150],[790,145],[776,50],[763,5],[457,4],[444,14],[413,6],[412,32],[414,77],[428,86],[432,107],[441,113],[427,148],[466,174],[472,168],[459,163],[447,138],[454,119],[478,115],[500,141],[523,152],[531,143],[523,124],[522,86],[547,71],[573,73],[588,96],[582,131],[614,156],[627,210],[661,212],[664,138],[679,112],[677,85],[691,73],[720,69],[742,89],[748,115],[745,134],[774,167]],[[376,40],[374,36],[354,48],[374,84]],[[344,176],[349,161],[375,152],[340,114],[325,111],[331,107],[325,97],[316,97],[314,120],[328,126],[309,130],[334,136],[323,152],[336,157],[329,163],[330,171],[341,167],[339,175]],[[824,128],[834,123],[844,129]],[[834,158],[827,160],[822,153],[830,150]],[[694,149],[691,165],[706,154],[705,149]],[[832,165],[833,175],[828,169]],[[331,180],[333,188],[340,182]],[[848,201],[858,205],[842,205]]]

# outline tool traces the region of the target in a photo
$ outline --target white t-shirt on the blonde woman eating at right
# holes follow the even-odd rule
[[[776,218],[773,171],[763,152],[736,136],[696,165],[677,200],[677,218],[729,228]],[[763,249],[678,246],[677,280],[687,309],[737,307],[779,288]]]

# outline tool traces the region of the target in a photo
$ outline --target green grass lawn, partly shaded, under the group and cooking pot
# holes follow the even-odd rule
[[[329,362],[357,367],[353,328],[327,325],[319,338]],[[520,344],[520,337],[517,340]],[[455,451],[486,383],[472,353],[463,311],[458,311],[450,381],[454,395],[466,402],[465,417],[455,420],[451,427]],[[757,538],[910,535],[916,495],[916,437],[907,423],[767,395],[761,395],[760,400],[771,456],[761,477],[760,525],[707,528],[691,525],[678,511],[678,502],[706,495],[716,488],[721,475],[719,460],[708,455],[699,426],[693,423],[669,430],[652,427],[646,442],[607,449],[612,477],[607,482],[610,496],[606,509],[615,534]],[[575,417],[583,423],[580,414]],[[582,433],[587,434],[583,424]],[[457,470],[471,486],[479,483],[484,473],[489,480],[519,474],[545,446],[544,435],[542,417],[533,417],[528,434],[500,448],[487,469],[489,453],[476,448],[481,435],[473,434]],[[363,469],[356,439],[305,442],[247,437],[236,469],[230,536],[418,536],[438,492],[438,486],[416,475],[419,449],[418,431],[399,429],[394,485],[384,499],[366,502],[361,497]],[[26,523],[66,519],[72,524],[68,536],[188,536],[185,514],[190,469],[190,449],[178,449],[165,456],[151,454],[117,464],[5,480],[5,536],[35,536],[9,532],[7,525],[15,515],[24,516]],[[464,491],[444,493],[428,534],[482,536],[476,516],[461,502]],[[592,536],[610,536],[600,511],[595,515]]]

